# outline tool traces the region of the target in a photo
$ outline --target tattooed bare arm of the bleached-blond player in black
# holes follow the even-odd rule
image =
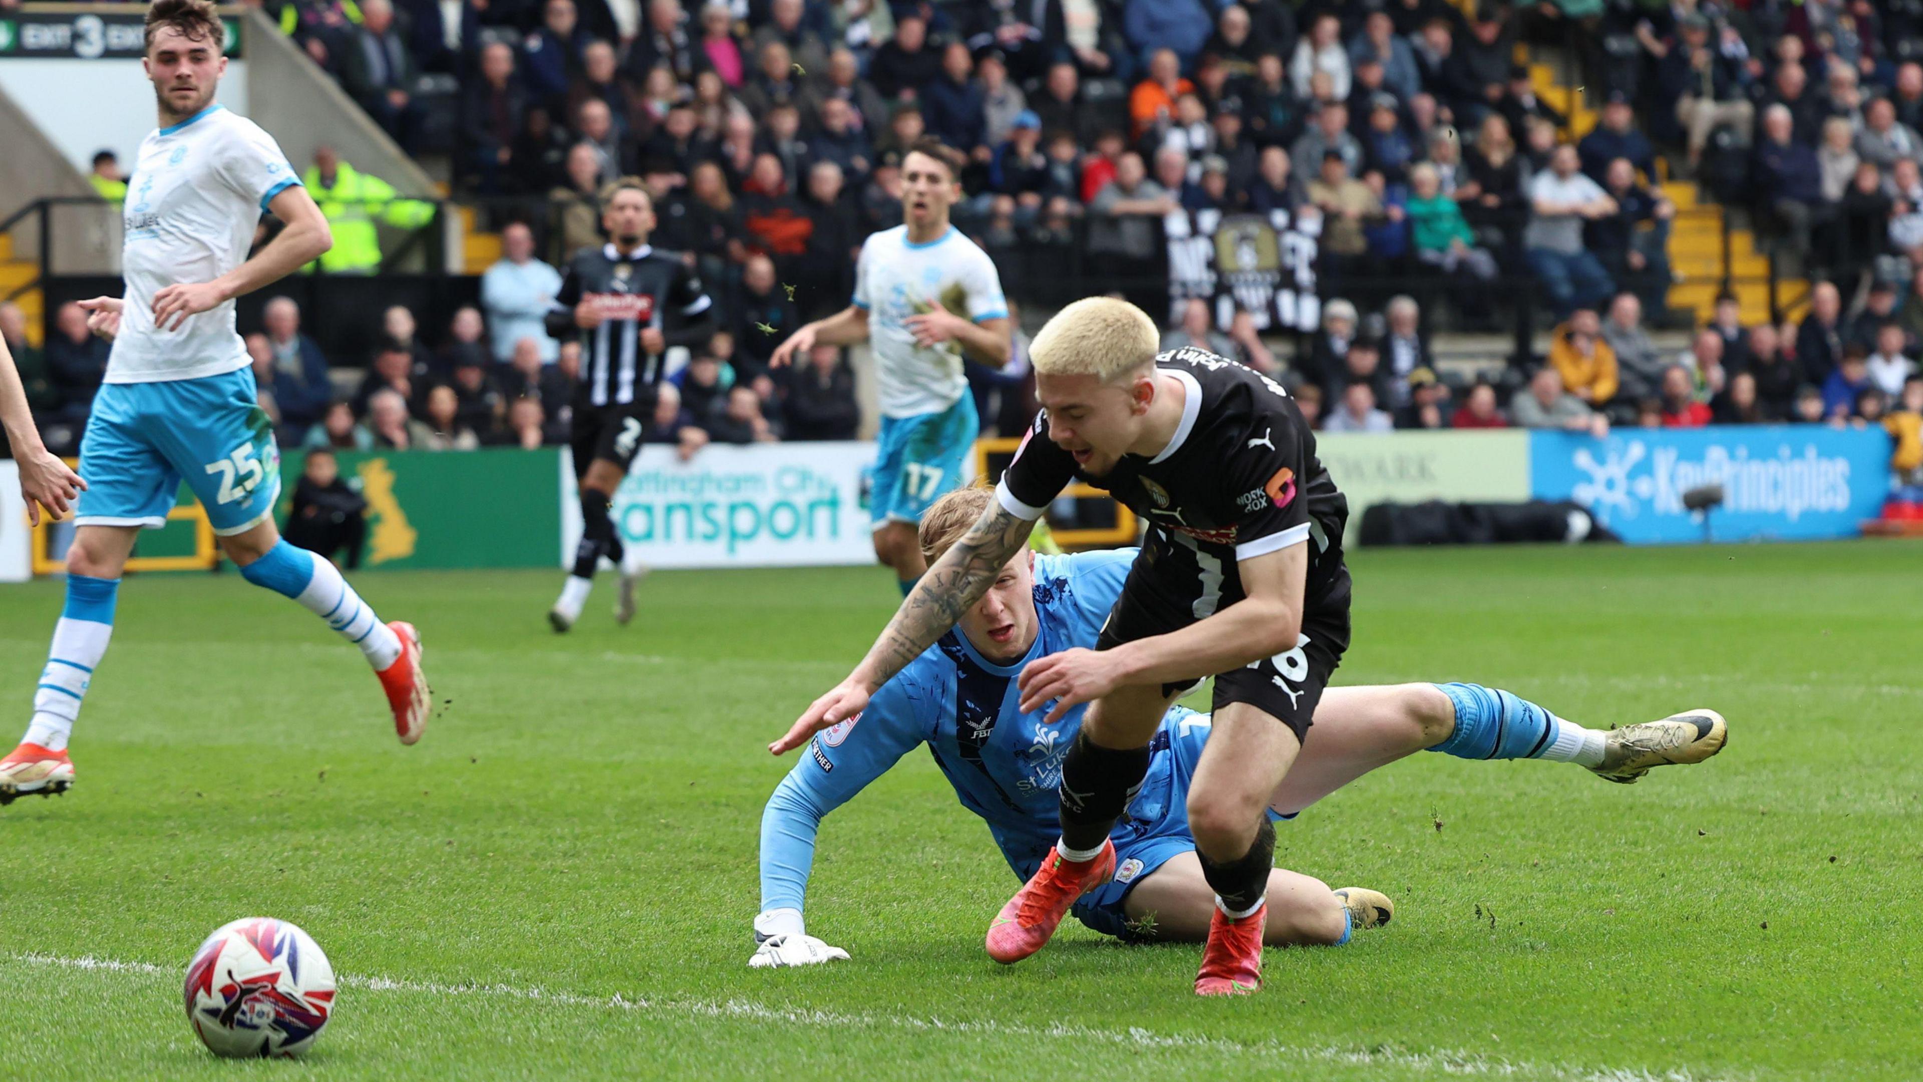
[[[1002,566],[1021,551],[1033,529],[1033,518],[1019,518],[1000,502],[990,502],[975,526],[921,576],[848,680],[815,699],[787,735],[767,745],[767,751],[775,755],[792,751],[835,722],[860,714],[877,687],[921,657],[921,651],[946,635],[956,620],[988,593],[994,576],[1002,574]]]

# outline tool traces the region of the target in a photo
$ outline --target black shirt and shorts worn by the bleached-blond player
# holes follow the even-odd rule
[[[1317,462],[1315,435],[1294,399],[1273,379],[1194,347],[1158,354],[1156,368],[1188,391],[1181,427],[1161,454],[1125,454],[1106,474],[1086,476],[1048,439],[1044,410],[1002,474],[998,499],[1010,514],[1036,518],[1071,479],[1081,479],[1150,524],[1096,649],[1211,616],[1242,601],[1238,560],[1308,543],[1296,647],[1217,674],[1213,693],[1217,710],[1248,703],[1302,739],[1348,649],[1348,501]],[[1194,683],[1169,683],[1163,693]]]

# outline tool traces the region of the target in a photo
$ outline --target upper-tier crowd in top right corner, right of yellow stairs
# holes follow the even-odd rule
[[[1923,266],[1923,8],[1611,4],[1588,29],[1590,85],[1640,106],[1681,167],[1752,208],[1810,277]]]

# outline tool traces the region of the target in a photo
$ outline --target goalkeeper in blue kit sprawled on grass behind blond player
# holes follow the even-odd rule
[[[921,522],[923,554],[938,560],[992,499],[985,489],[942,497]],[[808,936],[802,918],[815,832],[823,816],[917,745],[929,745],[962,807],[988,822],[1015,876],[1029,880],[1050,859],[1061,830],[1061,755],[1075,741],[1085,707],[1048,724],[1040,707],[1021,710],[1015,678],[1036,658],[1096,643],[1135,556],[1135,549],[1035,556],[1023,547],[956,628],[888,680],[867,710],[813,739],[762,812],[762,915],[752,966],[848,957]],[[1683,728],[1694,739],[1698,728],[1715,724],[1713,712],[1696,710],[1602,734],[1475,683],[1331,687],[1315,707],[1302,755],[1269,797],[1269,818],[1292,818],[1361,774],[1423,749],[1477,760],[1575,760],[1604,778],[1635,780],[1669,762],[1654,751],[1671,743],[1667,734]],[[1148,774],[1110,836],[1115,864],[1090,876],[1088,893],[1073,903],[1088,928],[1160,941],[1200,941],[1208,934],[1215,899],[1194,855],[1186,803],[1210,728],[1208,714],[1183,707],[1161,718]],[[796,741],[804,739],[796,734]],[[1354,928],[1394,915],[1379,891],[1331,891],[1321,880],[1281,868],[1269,872],[1265,897],[1269,945],[1344,943]]]

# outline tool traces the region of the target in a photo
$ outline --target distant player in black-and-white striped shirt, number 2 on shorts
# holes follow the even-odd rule
[[[615,620],[635,618],[635,585],[646,568],[615,533],[608,514],[613,491],[654,425],[656,389],[665,375],[662,354],[677,345],[696,347],[713,329],[713,302],[702,293],[702,279],[679,254],[648,245],[654,231],[648,189],[637,177],[621,177],[602,189],[600,204],[602,227],[613,241],[575,252],[546,320],[556,339],[579,335],[585,358],[569,439],[581,493],[581,543],[573,572],[548,610],[556,631],[581,618],[602,556],[621,568]]]

